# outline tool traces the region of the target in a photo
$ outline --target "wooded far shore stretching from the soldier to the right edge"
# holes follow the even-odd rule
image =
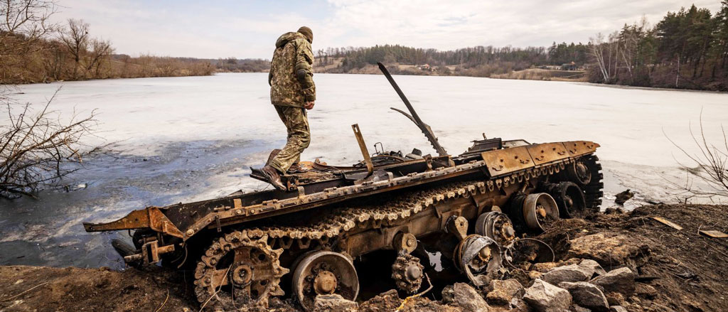
[[[573,62],[587,81],[639,87],[728,91],[728,1],[715,15],[692,5],[668,12],[659,23],[646,19],[624,25],[587,44],[554,42],[550,47],[469,47],[453,51],[400,45],[320,49],[318,64],[327,73],[352,73],[377,62],[413,65],[400,74],[499,77],[528,68],[558,68]]]

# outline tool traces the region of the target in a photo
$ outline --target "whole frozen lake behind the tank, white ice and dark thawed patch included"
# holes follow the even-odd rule
[[[312,143],[301,159],[329,164],[360,159],[350,127],[387,150],[434,153],[419,129],[389,107],[403,103],[381,75],[317,74],[318,100],[309,111]],[[676,201],[668,181],[685,178],[676,165],[679,145],[694,148],[689,123],[700,111],[708,139],[720,140],[728,95],[606,87],[556,81],[395,76],[422,119],[453,154],[482,137],[531,143],[593,140],[605,167],[605,204],[630,188],[644,201]],[[31,84],[15,95],[41,105],[63,86],[52,108],[69,116],[97,109],[100,136],[115,152],[88,159],[69,193],[41,200],[0,199],[0,264],[122,268],[111,248],[127,233],[84,232],[81,223],[122,217],[151,204],[253,191],[266,183],[247,175],[285,143],[285,127],[269,103],[266,73],[205,77],[114,79]],[[7,124],[6,115],[0,124]],[[94,139],[100,143],[98,139]],[[604,207],[603,207],[604,208]]]

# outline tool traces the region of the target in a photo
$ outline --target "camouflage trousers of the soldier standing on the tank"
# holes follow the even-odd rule
[[[306,109],[292,106],[273,105],[278,112],[280,120],[288,130],[288,142],[285,147],[270,162],[270,165],[279,172],[287,172],[292,164],[301,160],[301,153],[309,147],[311,132],[309,132],[309,119]]]

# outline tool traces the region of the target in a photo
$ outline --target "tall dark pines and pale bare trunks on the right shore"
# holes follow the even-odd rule
[[[692,5],[590,39],[589,79],[606,84],[728,90],[728,0],[715,15]]]

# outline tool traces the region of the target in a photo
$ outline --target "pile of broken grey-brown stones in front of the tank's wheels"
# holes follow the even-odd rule
[[[443,289],[441,303],[417,298],[414,303],[407,304],[409,306],[403,306],[402,311],[622,312],[627,310],[619,304],[635,292],[635,273],[630,268],[616,268],[607,272],[594,260],[539,263],[534,265],[529,276],[532,280],[527,287],[517,279],[493,280],[483,289],[456,283]],[[374,300],[389,303],[389,306],[376,305],[375,308],[369,303],[359,306],[338,295],[329,295],[317,297],[314,311],[395,311],[402,303],[393,291]]]

